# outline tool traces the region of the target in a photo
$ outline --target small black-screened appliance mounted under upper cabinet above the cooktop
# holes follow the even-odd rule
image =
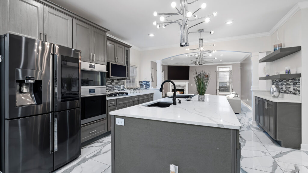
[[[108,78],[127,78],[127,66],[113,62],[107,63]]]

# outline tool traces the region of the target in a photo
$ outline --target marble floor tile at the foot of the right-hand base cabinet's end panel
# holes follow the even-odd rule
[[[269,136],[258,138],[276,161],[308,166],[308,155],[304,151],[280,147]]]

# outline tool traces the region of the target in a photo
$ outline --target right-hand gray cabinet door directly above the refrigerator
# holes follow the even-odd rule
[[[70,16],[44,6],[43,40],[72,47],[72,20]]]

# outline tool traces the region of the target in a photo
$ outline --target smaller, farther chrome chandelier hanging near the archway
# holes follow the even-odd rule
[[[207,59],[217,59],[216,57],[215,58],[210,58],[212,57],[212,54],[209,54],[209,53],[215,53],[216,50],[205,50],[205,48],[203,48],[203,46],[215,46],[215,44],[203,44],[203,38],[201,37],[201,33],[203,33],[204,30],[203,29],[200,29],[198,30],[198,32],[196,33],[200,33],[200,38],[199,38],[199,47],[196,48],[196,49],[189,49],[187,48],[186,50],[192,50],[192,51],[195,51],[195,50],[200,50],[200,52],[198,52],[197,54],[193,54],[193,55],[188,55],[186,54],[186,56],[195,56],[196,57],[196,60],[193,61],[193,64],[195,65],[203,65],[204,63],[210,63],[210,62],[213,62],[213,60],[210,60],[210,61],[205,61]],[[205,54],[209,54],[209,55],[205,55]],[[209,57],[209,58],[206,58],[206,57]]]

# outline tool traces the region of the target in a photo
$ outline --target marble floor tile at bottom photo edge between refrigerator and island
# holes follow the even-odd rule
[[[57,173],[102,173],[109,165],[83,157],[78,163]]]

